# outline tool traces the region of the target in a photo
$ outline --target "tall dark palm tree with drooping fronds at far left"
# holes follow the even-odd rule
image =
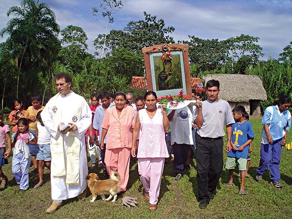
[[[15,65],[18,68],[17,97],[19,77],[23,74],[37,79],[36,74],[50,72],[52,58],[56,56],[60,43],[57,39],[59,25],[55,13],[45,3],[23,0],[21,7],[12,6],[7,16],[15,15],[4,27],[0,36],[8,34],[10,50],[14,52]]]

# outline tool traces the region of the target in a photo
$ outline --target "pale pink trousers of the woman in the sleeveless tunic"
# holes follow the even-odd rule
[[[138,158],[140,180],[145,191],[149,192],[150,204],[158,201],[164,160],[165,158]]]

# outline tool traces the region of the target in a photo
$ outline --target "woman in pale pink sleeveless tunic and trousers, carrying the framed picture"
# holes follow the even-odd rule
[[[154,91],[144,96],[146,109],[139,110],[132,137],[132,157],[138,158],[138,171],[144,186],[144,197],[149,201],[149,209],[156,210],[160,192],[164,160],[168,158],[164,133],[169,129],[166,108],[157,109],[157,95]],[[137,136],[140,131],[139,147]]]

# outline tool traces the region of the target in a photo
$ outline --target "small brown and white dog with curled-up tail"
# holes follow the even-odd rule
[[[117,194],[120,192],[120,174],[112,171],[110,174],[110,180],[99,180],[95,173],[91,173],[87,176],[87,184],[92,194],[91,202],[95,201],[97,195],[100,195],[102,200],[112,202],[116,201]],[[105,194],[109,194],[109,198],[105,198]]]

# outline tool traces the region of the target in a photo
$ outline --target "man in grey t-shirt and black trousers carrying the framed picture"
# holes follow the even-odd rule
[[[199,207],[205,208],[216,194],[216,187],[223,169],[223,136],[224,125],[227,132],[226,151],[232,149],[231,136],[234,118],[227,101],[218,98],[219,81],[209,80],[206,83],[208,99],[196,102],[195,124],[197,181]]]

